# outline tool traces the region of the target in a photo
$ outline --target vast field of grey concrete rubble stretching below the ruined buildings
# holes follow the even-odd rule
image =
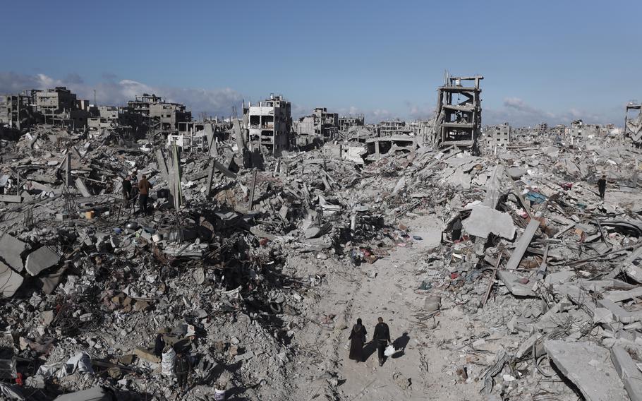
[[[327,143],[254,167],[233,141],[152,145],[2,140],[1,400],[642,400],[627,140],[369,163]],[[350,360],[352,325],[370,340],[379,316],[395,353]]]

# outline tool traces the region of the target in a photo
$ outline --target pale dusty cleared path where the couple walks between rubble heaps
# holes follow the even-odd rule
[[[482,400],[477,383],[459,383],[454,376],[456,351],[440,347],[452,341],[453,333],[466,331],[464,313],[446,309],[428,325],[417,324],[413,317],[422,311],[425,298],[439,294],[438,282],[429,292],[416,292],[422,273],[425,272],[426,255],[440,244],[442,222],[434,217],[420,216],[406,222],[411,233],[422,237],[412,246],[398,247],[390,256],[381,258],[372,265],[364,263],[360,268],[336,266],[348,271],[348,277],[328,275],[327,294],[323,294],[313,308],[319,314],[336,313],[333,330],[319,330],[313,324],[304,328],[298,341],[317,347],[323,362],[316,367],[308,366],[301,359],[301,373],[310,378],[322,376],[323,371],[334,371],[339,378],[335,397],[341,400]],[[330,263],[330,262],[328,262]],[[376,277],[368,277],[370,270]],[[370,275],[372,276],[372,274]],[[441,280],[435,277],[435,280]],[[366,345],[365,363],[349,359],[347,344],[350,328],[361,318],[372,338],[377,317],[388,323],[391,338],[405,350],[388,358],[379,366],[377,351]],[[434,327],[436,325],[436,327]],[[400,373],[400,374],[399,374]],[[317,383],[318,381],[313,383]],[[407,386],[405,383],[410,383]],[[313,400],[317,390],[299,388],[300,397],[293,399]],[[307,395],[306,395],[307,392]]]

